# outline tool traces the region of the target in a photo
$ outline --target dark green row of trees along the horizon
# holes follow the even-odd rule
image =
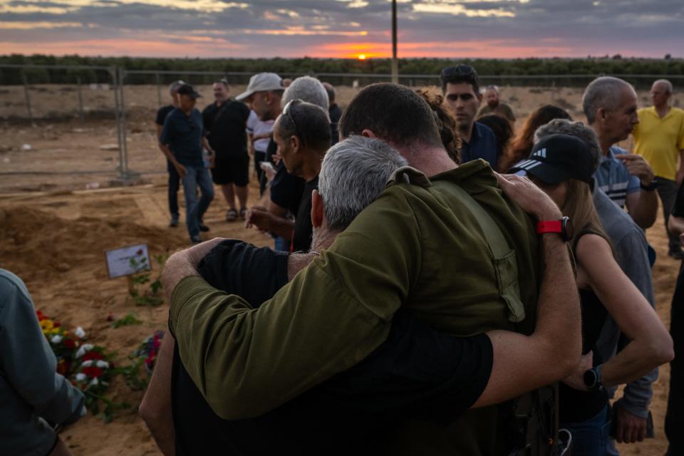
[[[684,59],[621,58],[621,56],[600,58],[517,58],[501,59],[464,59],[455,61],[444,58],[403,58],[399,62],[400,75],[425,75],[434,79],[445,66],[468,63],[474,66],[480,76],[501,77],[509,75],[684,75]],[[131,58],[131,57],[87,57],[87,56],[46,56],[34,54],[24,56],[12,54],[0,56],[3,64],[48,65],[48,66],[108,66],[120,67],[127,71],[214,71],[218,73],[258,73],[272,71],[282,76],[302,74],[345,73],[349,78],[361,73],[388,74],[390,60],[371,58],[366,61],[345,58]],[[24,78],[29,83],[108,83],[108,71],[83,69],[23,69],[0,68],[0,84],[21,84]],[[160,83],[172,79],[170,75]],[[212,77],[208,77],[211,79]],[[205,83],[205,78],[197,83]],[[242,78],[244,79],[244,77]],[[244,82],[244,81],[240,82]],[[580,78],[581,79],[581,78]],[[492,80],[496,81],[496,80]],[[579,81],[579,79],[578,79]],[[155,83],[150,76],[128,76],[126,83]],[[234,81],[238,82],[238,81]],[[583,83],[586,82],[586,79]],[[347,83],[345,80],[344,83]]]

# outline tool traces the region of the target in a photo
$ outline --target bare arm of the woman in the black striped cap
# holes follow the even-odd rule
[[[646,298],[620,269],[603,237],[586,234],[577,245],[579,266],[591,289],[630,339],[601,367],[604,386],[640,378],[673,358],[672,338]]]

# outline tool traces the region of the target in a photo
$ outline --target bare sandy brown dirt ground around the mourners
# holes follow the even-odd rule
[[[127,299],[126,280],[108,279],[103,252],[138,242],[147,242],[152,254],[172,252],[187,245],[184,227],[167,227],[165,163],[156,148],[152,125],[157,107],[156,91],[153,87],[147,87],[147,91],[143,89],[145,86],[133,87],[126,93],[130,111],[130,168],[142,173],[138,185],[132,187],[115,186],[112,180],[117,175],[118,152],[100,148],[116,143],[113,120],[88,120],[81,124],[71,113],[68,121],[38,121],[35,127],[7,121],[0,123],[0,267],[26,281],[37,309],[68,328],[83,326],[89,341],[118,352],[119,361],[125,361],[145,337],[165,328],[168,309],[166,305],[135,306]],[[211,98],[208,87],[200,90]],[[232,93],[240,90],[242,88],[232,88]],[[342,88],[338,95],[340,104],[346,104],[354,92],[354,89]],[[55,94],[60,95],[60,92],[43,92],[42,102],[54,103],[53,108],[58,109],[60,98],[53,96]],[[640,93],[641,100],[646,103],[644,96]],[[543,103],[554,101],[563,105],[559,100],[564,100],[567,103],[564,107],[579,118],[580,90],[503,88],[502,98],[512,102],[521,120]],[[6,100],[5,108],[13,99],[0,90],[0,101]],[[87,105],[95,101],[86,97]],[[98,108],[96,103],[93,106],[93,110]],[[16,106],[9,108],[21,110]],[[46,112],[51,109],[48,107]],[[6,116],[2,112],[2,116]],[[31,149],[23,150],[24,144],[30,144]],[[30,173],[25,174],[27,172]],[[249,198],[251,203],[257,201],[254,182],[250,185]],[[179,194],[181,212],[184,212],[182,200],[182,194]],[[271,244],[269,237],[256,230],[244,229],[238,222],[224,222],[224,212],[224,200],[217,192],[204,219],[212,228],[209,233],[212,237],[237,237],[259,246]],[[669,326],[678,262],[666,254],[667,240],[661,215],[655,227],[648,230],[648,239],[658,252],[653,269],[657,310]],[[112,328],[107,321],[108,316],[122,318],[130,312],[143,324]],[[623,455],[662,455],[665,452],[663,418],[668,380],[669,368],[663,366],[660,378],[653,386],[651,406],[656,438],[639,445],[621,445]],[[119,379],[110,388],[110,394],[115,400],[132,404],[133,410],[119,412],[113,423],[107,425],[88,415],[66,429],[62,437],[73,454],[160,454],[135,413],[142,393],[131,391]]]

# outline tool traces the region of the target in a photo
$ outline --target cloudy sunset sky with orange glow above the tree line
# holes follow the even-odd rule
[[[0,0],[0,53],[390,55],[388,0]],[[684,56],[683,0],[398,2],[400,57]]]

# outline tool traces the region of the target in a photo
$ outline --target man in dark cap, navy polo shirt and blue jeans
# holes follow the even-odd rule
[[[185,195],[185,224],[190,242],[202,242],[200,231],[208,231],[202,224],[202,216],[214,199],[214,185],[209,170],[204,167],[202,146],[213,150],[204,137],[202,114],[195,109],[199,95],[192,86],[185,84],[178,89],[178,108],[164,120],[159,137],[159,147],[175,167],[183,182]],[[197,198],[197,187],[202,196]]]

